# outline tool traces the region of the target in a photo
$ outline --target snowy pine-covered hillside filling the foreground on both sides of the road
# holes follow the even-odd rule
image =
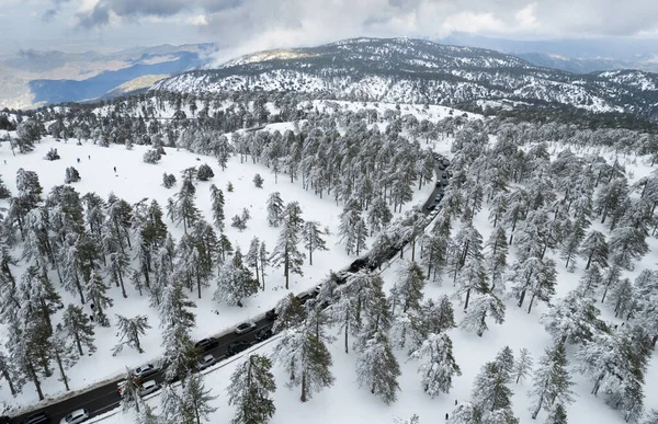
[[[0,367],[22,392],[12,397],[1,381],[10,414],[58,400],[63,374],[76,391],[164,357],[168,373],[192,378],[184,355],[193,341],[231,332],[275,305],[270,342],[204,371],[217,396],[204,402],[217,408],[204,408],[208,422],[235,416],[225,388],[251,352],[274,360],[277,389],[259,398],[272,397],[272,423],[412,414],[433,423],[447,413],[451,424],[477,423],[478,414],[484,423],[530,424],[538,408],[538,422],[564,411],[571,423],[644,424],[658,408],[658,154],[649,134],[483,121],[436,105],[151,94],[43,110],[11,137],[0,146],[14,196],[0,200]],[[44,160],[54,148],[61,159]],[[445,171],[433,152],[450,157],[452,176],[427,222],[413,206],[435,193]],[[201,177],[205,163],[209,181]],[[77,173],[80,181],[60,185]],[[170,188],[163,173],[175,179]],[[310,265],[317,236],[328,250],[313,251]],[[249,253],[254,237],[270,255]],[[291,256],[290,289],[285,245],[306,255]],[[366,251],[377,257],[390,249],[394,260],[381,271],[341,285],[329,279]],[[264,290],[254,289],[254,257],[271,260]],[[318,301],[280,302],[321,282]],[[77,354],[64,319],[71,308],[93,318],[95,352],[84,344]],[[150,328],[137,337],[144,353],[117,316],[147,317]],[[113,355],[122,336],[131,343]],[[526,348],[534,365],[510,360],[504,346],[515,359]],[[543,359],[545,349],[552,356]],[[61,357],[70,362],[59,369]],[[37,403],[37,386],[50,399]],[[186,423],[181,416],[194,409],[186,390],[164,388],[146,403]],[[118,406],[114,388],[110,396],[113,403],[91,412]],[[146,403],[138,401],[140,414]],[[107,423],[136,422],[131,414]]]

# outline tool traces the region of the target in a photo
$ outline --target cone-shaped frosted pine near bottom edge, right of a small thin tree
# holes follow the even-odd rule
[[[544,356],[540,358],[533,377],[533,389],[529,392],[534,400],[531,406],[533,420],[542,409],[549,410],[555,402],[563,405],[574,402],[571,386],[575,383],[571,382],[567,366],[565,345],[561,342],[546,348]]]

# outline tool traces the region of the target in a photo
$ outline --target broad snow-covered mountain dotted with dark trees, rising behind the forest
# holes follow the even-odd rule
[[[337,99],[455,104],[508,99],[658,121],[658,75],[574,75],[494,50],[412,38],[353,38],[243,56],[218,69],[181,73],[152,90],[296,91]]]

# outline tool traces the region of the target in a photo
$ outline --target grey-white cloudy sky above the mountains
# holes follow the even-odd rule
[[[213,42],[231,54],[353,36],[658,38],[657,0],[0,0],[0,54]]]

